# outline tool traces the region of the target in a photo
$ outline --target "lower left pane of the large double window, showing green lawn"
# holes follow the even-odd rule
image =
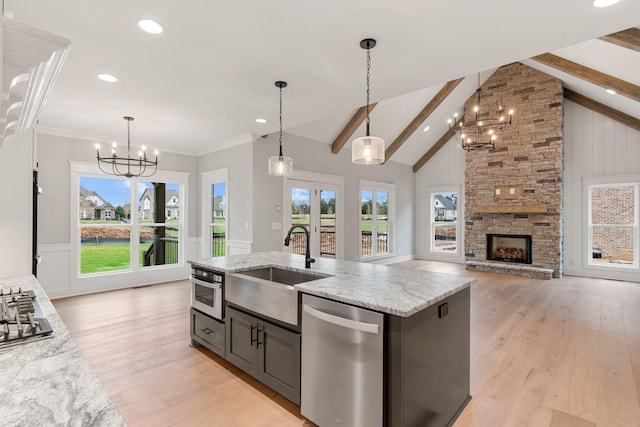
[[[80,227],[80,273],[130,268],[129,226]]]

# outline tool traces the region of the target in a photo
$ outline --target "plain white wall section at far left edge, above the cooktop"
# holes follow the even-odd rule
[[[31,131],[0,146],[0,277],[31,274]]]

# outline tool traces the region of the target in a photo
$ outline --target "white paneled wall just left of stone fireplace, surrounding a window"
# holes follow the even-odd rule
[[[452,138],[415,174],[416,258],[464,262],[464,156],[465,152],[457,139]],[[429,252],[428,225],[432,214],[429,193],[436,188],[438,191],[443,188],[456,188],[458,191],[458,221],[462,221],[462,224],[458,227],[457,243],[460,251],[455,255]]]

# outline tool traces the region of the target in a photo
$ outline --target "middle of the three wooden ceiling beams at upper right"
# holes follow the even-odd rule
[[[600,71],[585,67],[584,65],[569,61],[552,53],[543,53],[531,59],[605,89],[613,89],[620,95],[640,102],[640,86],[634,85],[633,83],[601,73]]]

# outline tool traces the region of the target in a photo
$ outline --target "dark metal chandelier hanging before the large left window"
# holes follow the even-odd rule
[[[147,159],[147,151],[143,145],[138,151],[138,157],[131,157],[131,121],[133,117],[124,116],[127,121],[127,157],[119,157],[116,153],[118,144],[113,143],[111,156],[100,156],[100,145],[96,144],[98,167],[107,175],[131,177],[148,177],[158,170],[158,151],[154,152],[155,160]]]

